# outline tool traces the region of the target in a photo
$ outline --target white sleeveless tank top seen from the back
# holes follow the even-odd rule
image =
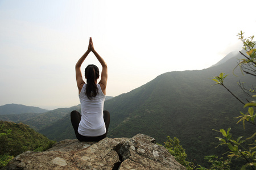
[[[106,133],[106,126],[103,119],[103,106],[106,96],[98,86],[98,94],[91,100],[85,95],[86,84],[79,94],[82,117],[79,124],[79,134],[86,137],[97,137]]]

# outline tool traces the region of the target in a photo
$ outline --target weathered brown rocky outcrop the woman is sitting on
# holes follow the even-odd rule
[[[133,138],[77,139],[56,143],[44,152],[27,151],[3,169],[185,169],[166,148],[144,134]]]

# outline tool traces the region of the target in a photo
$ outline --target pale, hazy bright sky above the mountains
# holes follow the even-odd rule
[[[75,65],[108,64],[107,96],[170,71],[206,69],[256,35],[256,1],[0,0],[0,105],[79,104]],[[93,53],[89,64],[101,65]]]

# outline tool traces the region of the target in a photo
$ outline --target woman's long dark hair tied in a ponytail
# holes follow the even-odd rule
[[[98,67],[96,65],[88,65],[85,68],[85,77],[86,77],[86,89],[85,89],[85,95],[88,97],[88,99],[92,99],[92,97],[95,97],[98,94],[98,87],[95,83],[95,80],[97,80],[100,76]]]

